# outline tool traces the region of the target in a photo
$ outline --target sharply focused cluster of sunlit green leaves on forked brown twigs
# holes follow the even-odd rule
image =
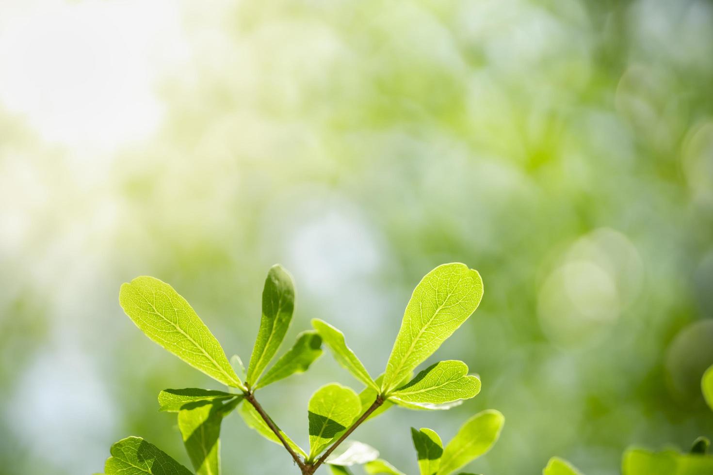
[[[282,444],[302,474],[313,474],[322,464],[335,473],[349,473],[348,466],[365,464],[369,473],[401,473],[378,459],[373,447],[355,441],[343,443],[367,419],[398,405],[408,409],[448,409],[480,392],[481,381],[468,374],[461,361],[441,361],[414,377],[422,362],[476,310],[483,296],[477,271],[462,263],[436,267],[414,289],[406,306],[386,369],[371,377],[344,334],[319,319],[314,330],[297,336],[287,353],[270,367],[284,339],[294,310],[292,277],[281,266],[270,268],[262,293],[262,318],[250,364],[245,371],[234,357],[241,375],[233,369],[220,343],[193,308],[171,286],[153,277],[138,277],[120,290],[125,313],[151,340],[189,365],[227,386],[227,391],[199,388],[160,392],[160,410],[178,412],[178,428],[198,475],[220,474],[220,425],[237,409],[245,423],[266,439]],[[255,392],[274,382],[304,372],[327,346],[364,390],[357,394],[336,383],[325,385],[309,400],[309,450],[295,444],[275,424],[255,397]],[[476,414],[461,427],[443,449],[431,429],[413,429],[421,474],[451,474],[484,454],[496,442],[503,427],[500,412]],[[111,447],[106,475],[181,475],[191,472],[140,437],[122,439]]]

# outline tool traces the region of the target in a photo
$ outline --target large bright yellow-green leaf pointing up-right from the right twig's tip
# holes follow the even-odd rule
[[[414,289],[401,330],[386,363],[382,394],[389,395],[411,370],[424,362],[478,308],[483,281],[462,263],[443,264]]]

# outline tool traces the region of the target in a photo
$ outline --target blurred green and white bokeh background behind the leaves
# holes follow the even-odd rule
[[[409,427],[501,410],[468,466],[617,474],[629,444],[713,436],[713,3],[4,0],[0,5],[0,469],[100,471],[140,435],[188,465],[166,387],[217,387],[118,306],[150,274],[247,362],[267,269],[287,340],[323,318],[372,375],[439,263],[478,269],[433,359],[481,394],[392,409],[356,439],[408,473]],[[263,405],[359,385],[325,355]],[[294,473],[223,424],[226,475]]]

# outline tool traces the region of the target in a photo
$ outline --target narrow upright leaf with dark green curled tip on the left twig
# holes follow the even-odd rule
[[[294,285],[292,276],[279,264],[270,268],[262,290],[262,318],[247,367],[247,384],[253,385],[275,356],[292,321]]]

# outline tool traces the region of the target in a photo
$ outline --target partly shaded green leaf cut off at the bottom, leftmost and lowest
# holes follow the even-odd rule
[[[141,437],[126,437],[111,446],[106,475],[190,475],[185,466]]]

